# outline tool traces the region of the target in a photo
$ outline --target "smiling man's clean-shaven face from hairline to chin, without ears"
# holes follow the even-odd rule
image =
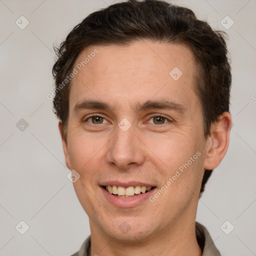
[[[91,46],[74,67],[63,147],[90,228],[142,241],[194,221],[208,147],[191,51],[149,40]]]

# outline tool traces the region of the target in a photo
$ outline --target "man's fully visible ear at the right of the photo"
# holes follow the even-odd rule
[[[216,168],[223,159],[229,144],[231,120],[231,115],[228,112],[223,112],[218,120],[211,124],[203,163],[204,169],[211,170]]]

